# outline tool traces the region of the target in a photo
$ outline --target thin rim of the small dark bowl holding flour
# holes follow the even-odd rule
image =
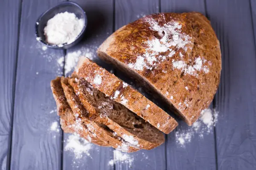
[[[42,38],[39,36],[38,26],[39,26],[39,23],[40,23],[41,18],[42,18],[47,12],[49,12],[50,10],[52,10],[53,8],[56,8],[56,7],[58,7],[58,6],[60,6],[60,5],[63,5],[63,4],[72,4],[72,5],[76,6],[76,7],[78,7],[78,8],[83,12],[83,16],[84,16],[84,27],[83,27],[82,31],[79,33],[79,35],[76,37],[76,40],[79,39],[79,37],[81,37],[82,34],[84,34],[84,31],[85,31],[85,29],[86,29],[86,27],[87,27],[87,16],[86,16],[86,13],[85,13],[84,9],[83,9],[78,3],[75,3],[75,2],[72,2],[72,1],[64,1],[64,2],[58,3],[58,5],[53,6],[52,8],[47,9],[46,11],[44,11],[44,12],[38,17],[38,19],[37,19],[36,22],[35,22],[35,36],[36,36],[36,38],[38,38],[38,37],[40,38],[40,39],[37,40],[37,41],[40,41],[42,44],[44,44],[45,46],[47,46],[47,47],[49,47],[49,48],[66,49],[65,47],[67,47],[68,45],[70,45],[70,47],[71,47],[71,46],[73,46],[73,43],[76,42],[76,40],[74,40],[74,41],[71,42],[70,44],[67,44],[67,42],[66,42],[66,43],[64,43],[64,44],[61,44],[62,46],[59,46],[59,45],[49,44],[49,43],[47,43],[46,41],[42,40]]]

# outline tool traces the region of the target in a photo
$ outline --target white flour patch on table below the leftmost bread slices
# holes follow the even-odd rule
[[[70,135],[67,139],[65,150],[70,150],[75,154],[76,159],[81,159],[84,154],[90,156],[89,151],[92,149],[93,144],[79,137],[78,135]]]

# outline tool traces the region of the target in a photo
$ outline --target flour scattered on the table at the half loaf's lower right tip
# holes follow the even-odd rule
[[[186,130],[177,130],[175,133],[176,143],[185,147],[186,143],[191,142],[193,136],[198,134],[200,138],[204,138],[205,134],[211,133],[212,128],[218,121],[218,111],[204,109],[201,116],[191,127]]]

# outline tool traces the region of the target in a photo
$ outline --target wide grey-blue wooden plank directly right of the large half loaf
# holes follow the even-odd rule
[[[250,3],[207,0],[206,6],[222,51],[216,95],[218,169],[255,170],[256,54]]]

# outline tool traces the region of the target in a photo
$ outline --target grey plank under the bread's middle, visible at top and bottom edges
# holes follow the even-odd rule
[[[147,14],[159,12],[158,0],[116,0],[115,3],[115,29],[118,29],[134,20]],[[125,79],[122,73],[115,73],[121,79]],[[166,169],[165,145],[162,144],[153,150],[141,150],[136,153],[130,153],[129,156],[134,159],[129,167],[125,162],[117,161],[116,170],[121,169]]]

